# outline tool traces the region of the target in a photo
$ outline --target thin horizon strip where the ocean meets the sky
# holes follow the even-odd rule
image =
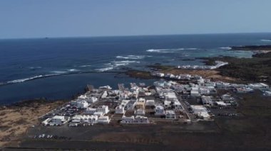
[[[224,35],[224,34],[257,34],[257,33],[271,33],[268,32],[240,32],[240,33],[176,33],[176,34],[146,34],[146,35],[79,35],[79,36],[44,36],[44,37],[32,37],[32,38],[0,38],[0,40],[19,40],[19,39],[42,39],[42,38],[106,38],[106,37],[136,37],[136,36],[163,36],[163,35]]]

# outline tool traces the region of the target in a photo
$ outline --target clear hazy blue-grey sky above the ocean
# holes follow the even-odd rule
[[[271,32],[270,0],[0,0],[0,38]]]

